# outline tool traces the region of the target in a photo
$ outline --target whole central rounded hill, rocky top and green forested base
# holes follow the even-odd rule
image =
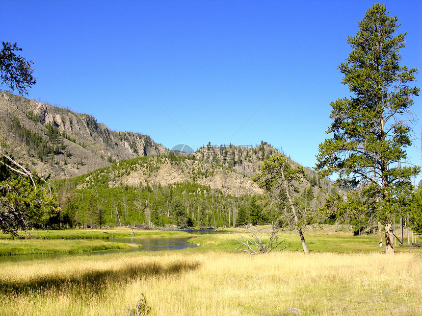
[[[274,222],[284,210],[273,208],[250,177],[274,154],[281,153],[264,142],[255,148],[206,146],[191,154],[121,160],[56,180],[54,189],[62,222],[71,226],[225,227]],[[315,171],[306,170],[305,177],[297,203],[316,215],[334,189]]]

